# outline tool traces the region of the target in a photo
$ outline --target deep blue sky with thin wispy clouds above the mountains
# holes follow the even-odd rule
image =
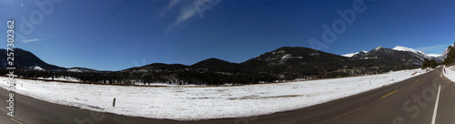
[[[15,19],[15,32],[19,34],[15,47],[31,51],[57,66],[99,70],[121,70],[150,63],[192,65],[210,57],[240,63],[278,47],[311,47],[308,42],[311,38],[324,43],[323,25],[331,27],[342,19],[337,10],[352,10],[354,3],[348,0],[44,2],[47,5],[39,7],[35,0],[0,1],[3,22],[0,29],[6,30],[7,19]],[[454,1],[363,2],[365,11],[356,13],[356,18],[337,34],[336,40],[324,43],[327,47],[320,50],[342,55],[378,46],[403,46],[440,54],[455,42]],[[202,11],[204,8],[211,9]],[[2,46],[5,47],[6,44]]]

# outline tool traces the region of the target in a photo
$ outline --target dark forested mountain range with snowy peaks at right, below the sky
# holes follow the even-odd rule
[[[120,71],[98,71],[84,67],[57,67],[45,63],[33,53],[15,48],[15,67],[27,71],[65,72],[62,75],[90,73],[86,81],[123,83],[126,80],[140,82],[169,82],[191,84],[258,83],[297,78],[337,78],[378,74],[390,70],[420,67],[424,58],[438,62],[442,55],[426,55],[409,47],[376,47],[347,55],[335,55],[307,47],[280,47],[242,63],[231,63],[208,58],[194,65],[154,63],[143,67],[131,67]],[[6,50],[0,49],[0,68],[6,66]],[[100,75],[100,76],[98,76]],[[115,75],[115,76],[109,76]],[[81,76],[80,74],[78,76]],[[118,78],[121,77],[121,78]]]

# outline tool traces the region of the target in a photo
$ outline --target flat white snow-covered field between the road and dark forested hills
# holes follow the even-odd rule
[[[417,74],[416,74],[417,73]],[[16,92],[46,101],[153,119],[220,119],[301,109],[425,73],[386,74],[232,87],[137,87],[45,82],[16,78]],[[416,74],[416,75],[412,75]],[[6,88],[7,78],[0,78]],[[116,107],[112,107],[116,98]]]

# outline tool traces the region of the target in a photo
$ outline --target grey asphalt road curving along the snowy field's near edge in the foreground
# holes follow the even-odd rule
[[[126,117],[67,107],[15,94],[15,117],[6,115],[9,92],[0,88],[0,124],[435,124],[455,123],[455,83],[441,68],[399,83],[327,103],[241,119],[177,121]],[[438,94],[439,98],[438,98]],[[436,100],[438,107],[435,108]],[[434,112],[436,109],[436,112]],[[436,113],[434,115],[433,113]]]

